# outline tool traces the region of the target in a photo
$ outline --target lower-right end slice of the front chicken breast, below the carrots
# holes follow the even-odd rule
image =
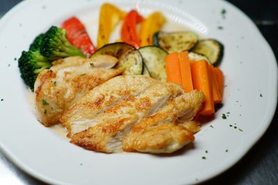
[[[167,101],[161,110],[142,119],[123,139],[126,152],[170,153],[194,141],[199,125],[191,121],[202,107],[204,94],[191,91]],[[187,118],[186,123],[176,123],[178,118]]]

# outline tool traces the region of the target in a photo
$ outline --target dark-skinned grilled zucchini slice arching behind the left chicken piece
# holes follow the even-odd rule
[[[116,68],[123,68],[124,75],[142,74],[143,63],[142,56],[133,46],[124,42],[115,42],[106,44],[92,54],[90,58],[96,58],[98,55],[111,55],[119,60]]]

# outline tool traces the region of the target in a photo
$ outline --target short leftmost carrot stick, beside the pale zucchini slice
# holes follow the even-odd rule
[[[181,68],[179,66],[179,53],[174,52],[166,57],[166,73],[167,82],[176,82],[182,85],[181,82]]]

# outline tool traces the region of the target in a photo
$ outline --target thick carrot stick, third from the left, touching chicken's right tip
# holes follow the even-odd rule
[[[208,71],[208,62],[200,60],[190,62],[191,75],[193,80],[193,88],[204,92],[205,100],[200,115],[210,116],[215,112],[213,103],[213,91],[211,78]]]

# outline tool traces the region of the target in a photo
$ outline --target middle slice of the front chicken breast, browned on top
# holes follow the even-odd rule
[[[179,85],[157,81],[138,96],[129,96],[108,107],[95,118],[94,126],[74,134],[71,142],[88,150],[122,152],[122,138],[132,127],[161,109],[167,100],[181,95],[182,91]]]

